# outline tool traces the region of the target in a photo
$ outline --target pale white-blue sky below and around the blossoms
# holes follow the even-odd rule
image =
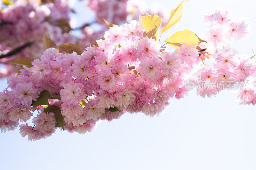
[[[160,2],[172,10],[181,1]],[[184,3],[180,22],[163,39],[185,29],[203,33],[204,11],[217,6],[230,9],[237,18],[247,16],[253,23],[250,38],[231,44],[238,52],[252,55],[252,48],[256,51],[256,3],[252,0],[190,0]],[[0,91],[6,86],[6,80],[0,80]],[[255,110],[256,106],[236,104],[228,90],[211,99],[192,90],[181,100],[171,99],[158,117],[124,114],[101,122],[89,134],[57,130],[52,137],[30,142],[16,129],[0,133],[0,169],[255,170]]]

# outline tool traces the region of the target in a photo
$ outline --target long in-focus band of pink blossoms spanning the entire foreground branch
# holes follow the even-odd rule
[[[226,37],[225,31],[233,23],[228,16],[227,11],[217,10],[205,18],[212,23],[210,29],[219,30]],[[245,29],[236,28],[243,30],[239,37],[247,34],[247,27],[245,24]],[[182,44],[169,53],[143,33],[143,25],[132,20],[109,28],[104,40],[97,40],[97,46],[85,48],[81,55],[63,54],[56,48],[44,51],[32,67],[24,66],[19,75],[7,79],[11,90],[0,93],[1,131],[20,127],[23,137],[37,140],[50,136],[62,124],[69,132],[86,133],[101,120],[118,119],[125,112],[155,116],[164,111],[170,98],[180,99],[188,94],[188,79],[202,86],[197,88],[197,94],[203,97],[242,82],[246,86],[236,92],[238,102],[255,104],[255,85],[251,83],[256,77],[255,62],[221,45],[222,39],[206,34],[207,43],[197,47]],[[50,93],[48,107],[45,101],[37,103],[42,101],[45,90]],[[29,126],[28,120],[36,110],[34,126]],[[19,122],[26,124],[19,126]]]

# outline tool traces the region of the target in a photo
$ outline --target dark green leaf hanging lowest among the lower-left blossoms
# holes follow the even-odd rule
[[[61,114],[60,107],[55,106],[55,105],[50,105],[50,106],[44,107],[44,112],[54,113],[54,116],[55,116],[55,119],[56,119],[55,127],[62,127],[62,129],[64,130],[63,116]]]

